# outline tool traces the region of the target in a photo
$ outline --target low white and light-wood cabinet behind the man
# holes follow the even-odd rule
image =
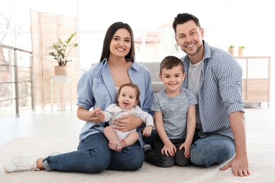
[[[271,101],[270,56],[236,56],[243,68],[243,101]]]

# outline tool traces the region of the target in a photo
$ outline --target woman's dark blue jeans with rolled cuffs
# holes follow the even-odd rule
[[[103,170],[138,170],[145,159],[138,144],[127,146],[122,152],[112,151],[109,141],[102,132],[92,134],[80,141],[78,151],[61,153],[44,158],[47,171],[102,172]]]

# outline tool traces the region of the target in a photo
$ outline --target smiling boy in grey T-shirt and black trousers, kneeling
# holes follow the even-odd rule
[[[185,79],[183,62],[176,56],[166,56],[160,65],[159,77],[166,89],[154,96],[151,110],[157,136],[154,150],[147,149],[149,163],[168,168],[190,164],[190,146],[195,133],[195,105],[193,92],[181,88]]]

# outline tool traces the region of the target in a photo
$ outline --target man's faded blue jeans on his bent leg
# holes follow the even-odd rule
[[[200,138],[195,132],[197,139],[191,146],[190,160],[194,165],[209,167],[214,164],[224,163],[231,158],[235,152],[233,139],[220,134],[210,134]]]

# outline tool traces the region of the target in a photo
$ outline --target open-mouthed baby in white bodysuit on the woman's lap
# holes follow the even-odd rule
[[[100,108],[94,109],[93,113],[103,113],[103,121],[109,121],[109,126],[104,128],[104,135],[109,140],[110,149],[114,151],[122,151],[124,147],[135,144],[139,138],[136,129],[128,132],[121,132],[114,129],[112,120],[115,118],[121,118],[122,115],[130,114],[142,118],[146,124],[145,129],[142,131],[142,135],[145,137],[151,135],[154,127],[154,120],[152,115],[142,111],[138,106],[139,97],[140,90],[135,84],[123,84],[118,89],[118,103],[111,104],[105,111],[101,111]]]

